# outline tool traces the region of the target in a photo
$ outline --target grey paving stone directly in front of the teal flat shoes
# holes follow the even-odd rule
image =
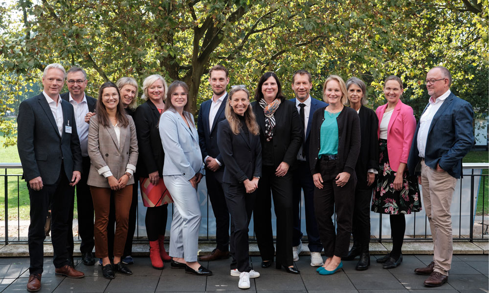
[[[348,276],[344,273],[334,273],[333,275],[323,276],[316,272],[316,274],[312,275],[302,275],[302,280],[304,281],[304,285],[306,285],[308,292],[311,292],[311,290],[356,290]]]

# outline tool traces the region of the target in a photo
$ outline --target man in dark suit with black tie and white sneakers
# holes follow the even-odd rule
[[[302,251],[302,232],[300,202],[301,189],[304,191],[304,207],[306,210],[306,231],[308,236],[308,247],[311,251],[311,266],[319,267],[323,265],[321,250],[323,245],[319,238],[316,218],[314,216],[313,194],[314,182],[312,182],[311,170],[309,168],[309,134],[311,133],[312,114],[315,110],[325,107],[328,104],[323,101],[313,99],[309,92],[311,91],[311,74],[307,70],[297,70],[292,76],[292,89],[295,93],[295,103],[299,116],[301,117],[304,129],[304,141],[297,154],[297,167],[293,171],[293,219],[294,232],[292,237],[292,252],[294,261],[299,260],[299,253]]]

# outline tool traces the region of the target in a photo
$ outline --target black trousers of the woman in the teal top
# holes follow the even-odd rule
[[[336,161],[320,160],[323,188],[314,188],[314,211],[324,255],[346,257],[350,248],[353,208],[355,200],[356,174],[350,175],[348,183],[338,187],[335,183]],[[336,233],[332,216],[336,211]]]

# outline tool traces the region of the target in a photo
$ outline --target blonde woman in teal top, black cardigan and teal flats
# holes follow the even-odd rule
[[[343,267],[348,255],[356,186],[355,166],[360,152],[360,120],[343,104],[347,99],[341,77],[332,75],[323,85],[327,107],[314,112],[311,126],[310,167],[314,181],[314,213],[328,257],[316,271],[322,275]],[[336,208],[336,232],[332,216]]]

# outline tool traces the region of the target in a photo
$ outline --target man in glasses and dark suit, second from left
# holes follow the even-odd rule
[[[85,115],[88,112],[95,112],[97,100],[85,94],[87,87],[87,73],[80,67],[72,66],[66,75],[66,85],[68,92],[61,95],[61,99],[73,106],[76,120],[76,130],[80,140],[82,150],[82,179],[76,185],[76,202],[78,205],[78,234],[82,238],[80,252],[82,261],[87,266],[95,263],[93,258],[93,202],[90,188],[87,185],[87,178],[90,170],[90,158],[87,151],[89,125],[85,123]],[[68,216],[67,250],[68,261],[71,266],[73,263],[73,207],[74,193],[70,193],[71,207]]]

